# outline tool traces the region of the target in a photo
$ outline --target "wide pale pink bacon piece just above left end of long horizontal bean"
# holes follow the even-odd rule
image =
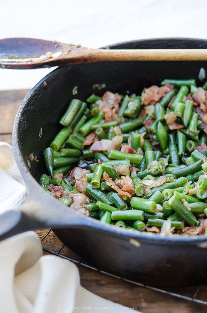
[[[119,150],[120,145],[123,141],[122,136],[114,136],[112,140],[109,139],[101,139],[100,141],[96,141],[90,147],[90,151],[108,151],[110,149]]]

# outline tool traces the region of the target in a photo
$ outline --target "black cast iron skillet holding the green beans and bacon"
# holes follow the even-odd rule
[[[207,40],[149,39],[110,47],[207,48]],[[162,238],[102,225],[68,209],[38,184],[41,174],[47,172],[43,150],[61,128],[58,121],[71,99],[85,100],[92,93],[103,95],[106,90],[140,94],[144,87],[159,85],[164,78],[198,80],[201,67],[206,69],[206,62],[99,62],[61,67],[43,78],[23,100],[13,128],[13,151],[27,184],[28,198],[20,212],[12,211],[1,216],[0,239],[29,229],[52,227],[58,238],[75,253],[114,275],[154,286],[203,282],[207,274],[205,236]],[[105,84],[106,87],[93,89],[94,84]],[[77,95],[72,93],[75,86],[78,86]],[[30,153],[37,156],[39,162],[29,161]]]

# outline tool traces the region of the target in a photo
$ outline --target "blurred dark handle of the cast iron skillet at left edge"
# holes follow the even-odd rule
[[[28,230],[41,228],[41,223],[32,221],[20,211],[8,211],[0,215],[0,241]]]

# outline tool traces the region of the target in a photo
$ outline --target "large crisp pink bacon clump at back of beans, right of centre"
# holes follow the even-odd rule
[[[144,105],[154,105],[159,101],[164,95],[166,95],[172,88],[169,88],[167,84],[162,87],[151,86],[149,88],[144,88],[144,92],[142,93],[142,102]]]

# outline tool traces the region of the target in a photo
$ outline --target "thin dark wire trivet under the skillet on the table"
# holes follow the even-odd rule
[[[51,230],[52,230],[52,229],[50,228],[50,230],[48,231],[48,233],[46,233],[46,235],[42,238],[41,242],[43,242],[43,240],[47,237],[47,235],[50,233]],[[59,256],[59,257],[61,257],[61,258],[63,258],[63,259],[68,259],[69,261],[71,261],[71,262],[73,262],[73,263],[75,263],[75,264],[84,266],[84,267],[86,267],[86,268],[88,268],[88,269],[92,269],[92,270],[94,270],[94,271],[97,271],[97,272],[102,273],[102,274],[109,275],[109,276],[114,277],[114,278],[118,278],[118,279],[123,280],[123,281],[126,281],[126,282],[128,282],[128,283],[137,285],[137,286],[139,286],[139,287],[144,287],[144,288],[147,288],[147,289],[151,289],[151,290],[154,290],[154,291],[158,291],[158,292],[160,292],[160,293],[163,293],[163,294],[166,294],[166,295],[171,295],[171,296],[177,297],[177,298],[179,298],[179,299],[188,300],[188,301],[196,302],[196,303],[199,303],[199,304],[207,305],[207,301],[203,301],[203,300],[196,299],[196,296],[197,296],[197,294],[198,294],[198,292],[199,292],[200,286],[198,286],[198,287],[196,288],[196,291],[195,291],[193,297],[191,298],[191,297],[187,297],[187,296],[184,296],[184,295],[179,295],[179,294],[177,294],[177,293],[171,292],[172,287],[170,287],[169,290],[166,291],[166,290],[164,290],[164,289],[160,289],[160,288],[156,288],[156,287],[151,287],[151,286],[148,286],[148,285],[143,285],[143,284],[137,283],[137,282],[135,282],[135,281],[128,280],[128,279],[125,279],[125,278],[122,278],[122,277],[119,277],[119,276],[116,276],[116,275],[113,275],[113,274],[104,272],[104,271],[102,271],[102,270],[100,270],[100,269],[97,269],[97,268],[95,268],[95,267],[93,267],[93,266],[90,266],[90,265],[88,265],[88,264],[85,264],[85,263],[81,262],[81,259],[80,259],[79,261],[77,261],[77,260],[74,260],[74,259],[72,259],[72,258],[69,258],[69,257],[67,257],[67,256],[65,256],[65,255],[63,255],[63,254],[60,253],[60,251],[64,248],[64,246],[65,246],[65,245],[63,244],[63,246],[58,250],[58,252],[49,250],[49,249],[44,248],[44,247],[43,247],[43,250],[44,250],[45,252],[50,253],[50,254],[57,255],[57,256]]]

